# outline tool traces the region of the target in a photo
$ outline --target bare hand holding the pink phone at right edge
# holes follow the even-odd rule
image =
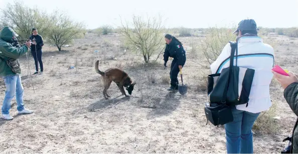
[[[277,82],[282,86],[283,89],[285,89],[288,85],[298,82],[297,74],[293,74],[292,72],[288,72],[289,76],[281,75],[279,73],[276,73],[275,71],[271,71],[273,73],[274,78],[277,80]]]

